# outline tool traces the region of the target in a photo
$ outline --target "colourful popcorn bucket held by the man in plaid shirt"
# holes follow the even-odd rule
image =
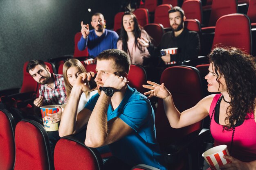
[[[61,106],[61,105],[47,105],[47,106],[40,107],[42,118],[43,118],[43,124],[46,131],[58,131],[60,122],[53,123],[52,120],[47,120],[45,118],[45,116],[47,116],[47,113],[52,114],[52,113],[57,113],[59,111],[59,109],[56,108],[56,106]]]

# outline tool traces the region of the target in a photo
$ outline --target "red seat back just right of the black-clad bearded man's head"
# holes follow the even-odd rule
[[[186,0],[182,4],[186,19],[197,19],[202,23],[202,3],[200,0]]]

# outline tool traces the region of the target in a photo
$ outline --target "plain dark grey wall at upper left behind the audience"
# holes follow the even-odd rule
[[[0,0],[0,90],[21,87],[25,61],[72,54],[81,21],[90,24],[93,13],[112,28],[120,7],[117,0]]]

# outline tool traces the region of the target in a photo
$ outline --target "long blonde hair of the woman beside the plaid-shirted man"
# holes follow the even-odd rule
[[[71,90],[72,90],[72,85],[68,81],[67,78],[67,70],[71,67],[76,67],[79,69],[80,72],[86,72],[83,64],[78,60],[78,59],[69,59],[67,60],[64,65],[63,65],[63,77],[64,77],[64,84],[65,84],[65,89],[67,92],[67,98],[69,98]],[[85,96],[89,98],[90,92],[85,92]]]

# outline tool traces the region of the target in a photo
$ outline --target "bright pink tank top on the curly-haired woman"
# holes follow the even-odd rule
[[[222,94],[216,94],[214,96],[209,112],[210,117],[221,95]],[[210,127],[214,145],[225,144],[230,150],[233,131],[223,131],[222,125],[214,120],[214,114],[215,113],[213,113]],[[245,162],[256,160],[256,122],[251,114],[249,114],[249,119],[245,120],[243,124],[236,126],[231,156]]]

